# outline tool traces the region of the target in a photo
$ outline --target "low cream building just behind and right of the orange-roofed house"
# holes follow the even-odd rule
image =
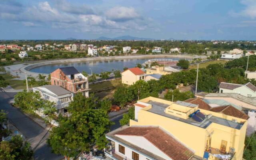
[[[146,69],[146,74],[171,74],[172,72],[180,72],[180,70],[173,68],[173,67],[159,67],[159,66],[152,66],[152,68]]]

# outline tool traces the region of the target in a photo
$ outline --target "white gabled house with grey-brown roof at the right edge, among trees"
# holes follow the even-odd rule
[[[256,86],[250,82],[246,84],[220,83],[220,93],[237,93],[246,97],[256,97]]]

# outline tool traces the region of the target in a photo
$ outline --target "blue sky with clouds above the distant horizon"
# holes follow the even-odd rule
[[[256,0],[0,0],[0,39],[256,40]]]

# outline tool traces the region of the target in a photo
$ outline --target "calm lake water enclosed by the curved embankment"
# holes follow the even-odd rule
[[[73,62],[73,63],[61,63],[61,64],[50,64],[46,66],[39,66],[36,68],[32,68],[30,71],[37,73],[45,73],[49,74],[54,70],[61,67],[69,67],[74,66],[80,72],[85,71],[88,74],[91,74],[91,70],[93,73],[100,73],[103,71],[112,71],[114,70],[123,70],[124,67],[135,67],[136,64],[142,64],[147,60],[152,58],[134,58],[134,59],[124,59],[124,60],[96,60],[96,61],[85,61],[85,62]],[[161,59],[161,58],[155,58]],[[172,60],[179,60],[180,58],[166,58]]]

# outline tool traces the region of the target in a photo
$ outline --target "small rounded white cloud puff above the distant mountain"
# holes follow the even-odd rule
[[[106,16],[115,21],[127,21],[139,18],[133,7],[114,7],[106,11]]]

